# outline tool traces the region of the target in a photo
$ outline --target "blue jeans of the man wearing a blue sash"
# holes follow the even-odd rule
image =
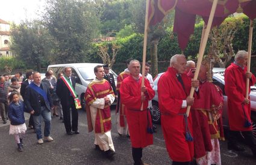
[[[42,139],[42,131],[41,131],[41,119],[43,117],[43,121],[45,121],[45,130],[43,132],[45,137],[50,135],[51,131],[51,112],[46,108],[46,106],[42,106],[40,110],[40,115],[33,115],[34,128],[36,130],[37,139]]]

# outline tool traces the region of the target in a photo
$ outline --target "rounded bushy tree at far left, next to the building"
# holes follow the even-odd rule
[[[11,30],[11,51],[20,61],[30,67],[37,67],[41,71],[42,64],[48,62],[51,51],[51,37],[42,22],[22,22],[19,26],[13,25]]]

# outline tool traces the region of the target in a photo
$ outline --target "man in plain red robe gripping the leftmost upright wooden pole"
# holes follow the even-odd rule
[[[142,87],[140,77],[140,62],[132,60],[129,64],[130,76],[123,80],[120,87],[121,101],[126,106],[126,119],[129,125],[131,145],[133,147],[134,165],[144,164],[141,160],[142,149],[153,144],[151,128],[151,115],[148,110],[148,101],[155,92],[151,88],[148,79],[145,79],[145,86]],[[143,108],[141,109],[143,104]]]

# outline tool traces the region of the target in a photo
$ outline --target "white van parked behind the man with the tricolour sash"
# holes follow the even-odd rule
[[[57,77],[58,73],[64,73],[64,67],[72,68],[72,75],[76,77],[75,91],[78,94],[78,98],[81,101],[82,106],[86,104],[84,100],[84,93],[86,92],[87,85],[95,79],[94,67],[96,65],[103,65],[97,63],[75,63],[75,64],[56,64],[49,65],[47,70],[52,70],[54,76]],[[110,69],[110,73],[113,74],[116,83],[117,75]]]

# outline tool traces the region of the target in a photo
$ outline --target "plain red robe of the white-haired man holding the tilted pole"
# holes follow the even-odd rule
[[[193,142],[185,139],[186,125],[183,115],[187,108],[181,108],[191,88],[191,79],[184,73],[181,75],[184,88],[176,77],[176,70],[169,67],[158,80],[158,103],[161,111],[161,127],[170,158],[173,161],[192,161],[194,156]],[[191,115],[188,118],[189,131],[192,133]],[[192,133],[193,136],[193,133]]]

